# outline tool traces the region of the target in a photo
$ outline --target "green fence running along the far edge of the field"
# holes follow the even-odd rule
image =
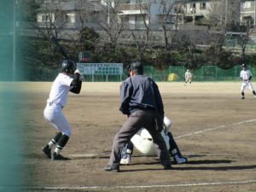
[[[253,75],[256,77],[256,68],[250,67]],[[24,79],[28,81],[53,81],[59,70],[43,67],[26,68]],[[152,66],[144,67],[144,74],[155,81],[181,82],[184,81],[185,67],[168,67],[166,70],[157,70]],[[228,70],[216,66],[203,66],[198,70],[192,70],[192,81],[238,81],[240,80],[241,66],[236,66]],[[120,82],[127,78],[127,71],[122,75],[86,75],[85,81],[88,82]],[[255,78],[256,79],[256,78]]]

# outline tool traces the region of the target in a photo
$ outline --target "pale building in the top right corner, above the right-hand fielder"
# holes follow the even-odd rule
[[[255,27],[256,24],[256,0],[241,3],[241,24],[248,24]]]

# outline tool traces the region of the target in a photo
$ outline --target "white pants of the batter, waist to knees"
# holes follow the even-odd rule
[[[71,137],[71,127],[67,118],[61,111],[61,106],[51,105],[49,103],[44,108],[44,118],[58,131],[61,131],[67,137]]]

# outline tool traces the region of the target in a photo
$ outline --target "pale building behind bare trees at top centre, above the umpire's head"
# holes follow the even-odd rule
[[[134,30],[146,26],[158,30],[166,26],[183,24],[183,3],[179,0],[123,0],[119,3],[119,20]]]

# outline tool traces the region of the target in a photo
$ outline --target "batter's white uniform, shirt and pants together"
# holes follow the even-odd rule
[[[67,103],[69,90],[73,88],[70,86],[72,81],[73,78],[67,74],[59,73],[52,84],[49,99],[47,100],[46,108],[44,108],[44,118],[68,137],[71,136],[71,127],[61,109]]]

